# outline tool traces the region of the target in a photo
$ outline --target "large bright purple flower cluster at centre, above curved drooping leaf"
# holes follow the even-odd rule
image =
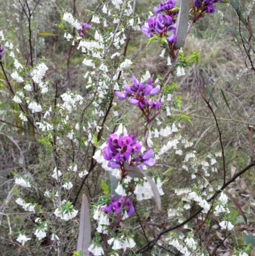
[[[122,177],[126,176],[124,170],[124,162],[131,166],[136,166],[143,169],[142,163],[149,167],[155,165],[156,160],[152,158],[153,150],[133,156],[133,154],[140,153],[142,146],[136,140],[136,135],[120,136],[112,133],[107,139],[108,145],[103,148],[103,156],[108,160],[108,167],[113,169],[120,168],[122,170]]]

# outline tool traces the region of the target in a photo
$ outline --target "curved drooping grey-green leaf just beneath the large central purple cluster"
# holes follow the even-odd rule
[[[130,177],[146,177],[147,178],[147,181],[150,183],[150,186],[152,188],[152,192],[154,194],[154,199],[155,199],[156,204],[157,204],[157,209],[161,210],[161,197],[160,197],[159,190],[158,190],[157,185],[154,182],[154,180],[150,176],[147,176],[138,167],[130,166],[126,162],[124,162],[124,169],[128,172],[128,175]]]

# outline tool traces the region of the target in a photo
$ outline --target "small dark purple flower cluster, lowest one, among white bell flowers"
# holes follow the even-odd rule
[[[112,202],[106,207],[100,207],[100,211],[105,211],[106,214],[109,213],[120,213],[120,209],[125,209],[127,211],[128,216],[130,217],[135,212],[135,207],[131,203],[130,199],[126,199],[125,206],[124,197],[120,197],[118,200],[114,200],[115,195],[112,195]]]

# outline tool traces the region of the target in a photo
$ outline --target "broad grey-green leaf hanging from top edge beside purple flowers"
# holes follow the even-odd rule
[[[181,0],[180,11],[177,17],[176,24],[176,37],[175,47],[180,48],[184,46],[186,36],[187,36],[187,26],[189,24],[189,0]]]

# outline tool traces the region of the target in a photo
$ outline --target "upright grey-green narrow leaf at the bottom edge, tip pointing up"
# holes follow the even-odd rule
[[[91,243],[91,220],[89,219],[89,201],[85,194],[82,195],[82,206],[80,209],[80,227],[77,241],[77,252],[89,255]]]

